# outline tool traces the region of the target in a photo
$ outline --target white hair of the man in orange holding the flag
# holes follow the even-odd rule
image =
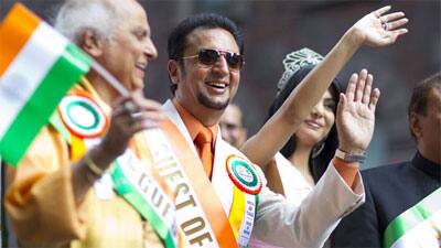
[[[84,31],[99,39],[111,39],[118,10],[109,0],[66,0],[55,18],[55,29],[78,44]]]

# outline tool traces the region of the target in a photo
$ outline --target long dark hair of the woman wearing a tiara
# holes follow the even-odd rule
[[[301,67],[299,71],[293,74],[284,87],[278,93],[275,101],[268,110],[268,118],[271,118],[276,111],[283,105],[287,100],[291,91],[300,84],[300,82],[314,68],[315,65],[305,65]],[[335,103],[338,103],[338,95],[342,91],[340,82],[335,78],[330,86],[331,95],[334,98]],[[336,112],[334,111],[334,115]],[[309,168],[316,183],[320,177],[322,177],[323,173],[326,171],[327,164],[332,160],[335,153],[335,149],[338,147],[338,137],[337,130],[335,128],[335,123],[332,126],[330,133],[327,137],[315,144],[311,152],[311,157],[309,159]],[[292,136],[291,139],[284,144],[284,147],[280,150],[280,152],[286,157],[290,158],[291,154],[295,151],[295,136]]]

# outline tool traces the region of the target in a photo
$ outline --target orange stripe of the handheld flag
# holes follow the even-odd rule
[[[40,24],[40,19],[15,4],[0,25],[0,77]]]

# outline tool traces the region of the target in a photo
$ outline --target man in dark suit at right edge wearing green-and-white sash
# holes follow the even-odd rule
[[[441,239],[441,73],[413,89],[411,161],[363,171],[366,204],[343,218],[334,247],[427,247]]]

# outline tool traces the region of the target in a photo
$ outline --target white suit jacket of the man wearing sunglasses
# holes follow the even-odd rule
[[[170,100],[163,105],[163,110],[180,131],[189,137],[189,131]],[[187,142],[193,145],[191,139],[187,139]],[[217,148],[218,145],[222,148]],[[220,137],[216,138],[215,147],[216,151],[222,149],[224,151],[232,150],[235,153],[239,152],[223,141]],[[219,157],[219,153],[216,152],[215,164],[220,159]],[[218,163],[225,164],[225,161],[218,161]],[[256,166],[256,169],[259,170],[266,184],[260,168]],[[359,173],[357,176],[361,176]],[[216,188],[216,182],[213,181],[212,184],[217,190],[219,200],[228,215],[232,196],[225,195],[224,188]],[[365,193],[362,180],[356,180],[356,182],[357,185],[353,192],[340,176],[334,165],[330,164],[310,194],[300,202],[288,202],[284,196],[273,193],[265,185],[259,194],[252,236],[281,247],[322,247],[341,218],[364,202]]]

